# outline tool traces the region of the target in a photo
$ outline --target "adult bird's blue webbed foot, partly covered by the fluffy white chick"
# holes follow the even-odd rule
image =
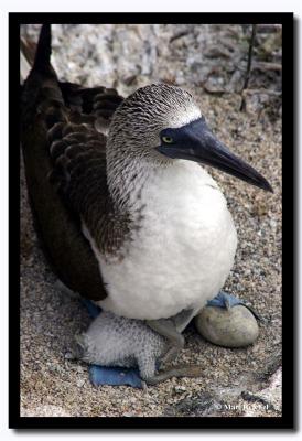
[[[90,300],[80,299],[80,301],[90,318],[96,319],[101,313],[101,309]],[[143,388],[139,370],[134,368],[89,365],[89,378],[94,386],[109,385]]]

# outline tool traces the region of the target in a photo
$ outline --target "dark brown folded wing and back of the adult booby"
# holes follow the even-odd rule
[[[82,219],[101,249],[115,248],[106,138],[97,128],[108,126],[121,100],[112,89],[60,83],[52,69],[33,69],[22,93],[23,158],[39,235],[60,279],[94,300],[107,293]]]

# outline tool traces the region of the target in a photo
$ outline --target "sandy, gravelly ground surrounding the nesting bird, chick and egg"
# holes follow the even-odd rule
[[[35,35],[36,26],[24,31]],[[61,77],[114,84],[122,94],[154,80],[190,89],[218,138],[262,173],[274,193],[211,171],[238,232],[225,290],[247,300],[263,318],[257,342],[240,349],[218,347],[191,324],[176,362],[199,364],[201,378],[173,378],[147,390],[95,388],[87,366],[66,358],[89,318],[78,300],[55,287],[33,229],[21,166],[22,416],[281,416],[280,73],[255,72],[252,87],[262,84],[274,93],[251,94],[247,111],[239,111],[248,31],[223,25],[54,26],[53,57]],[[260,34],[259,60],[262,54],[262,61],[276,61],[263,55],[268,40],[266,51],[278,58],[276,35],[271,30]]]

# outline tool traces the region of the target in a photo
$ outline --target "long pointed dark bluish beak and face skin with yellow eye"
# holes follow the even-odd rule
[[[162,130],[161,140],[157,150],[166,157],[208,164],[251,185],[273,192],[260,173],[215,138],[204,118],[177,129]]]

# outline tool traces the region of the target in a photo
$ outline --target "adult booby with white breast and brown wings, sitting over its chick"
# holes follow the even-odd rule
[[[182,331],[224,286],[237,235],[208,164],[271,191],[208,128],[193,96],[152,84],[123,99],[62,83],[43,25],[22,94],[31,205],[63,283],[104,310]]]

